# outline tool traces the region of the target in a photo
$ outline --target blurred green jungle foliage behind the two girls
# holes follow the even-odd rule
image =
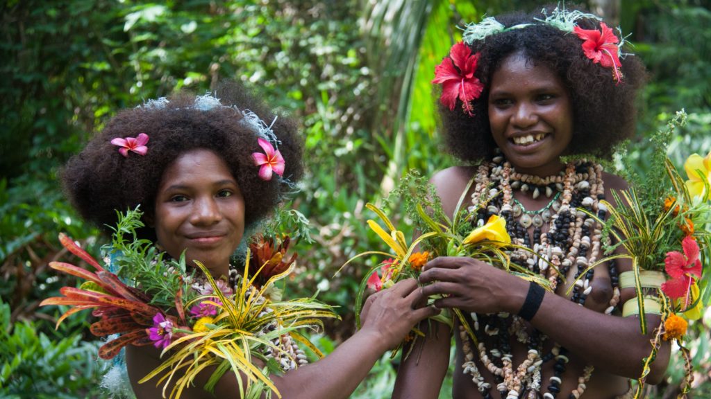
[[[355,253],[378,246],[365,202],[381,202],[407,170],[454,163],[442,150],[432,96],[434,65],[483,15],[540,7],[532,0],[5,0],[0,4],[0,396],[102,398],[88,316],[58,330],[41,299],[75,281],[48,270],[68,258],[65,231],[98,254],[105,238],[63,199],[61,165],[124,107],[179,89],[202,94],[223,78],[244,82],[301,123],[308,175],[289,206],[311,220],[299,244],[294,295],[319,289],[343,320],[328,324],[330,351],[353,332],[353,298],[365,267]],[[569,2],[570,4],[570,2]],[[648,134],[678,109],[688,125],[670,146],[680,166],[711,149],[711,1],[589,0],[630,33],[650,82],[626,156],[643,175]],[[397,204],[394,205],[397,207]],[[397,214],[393,212],[393,214]],[[401,220],[407,226],[407,220]],[[412,231],[406,231],[411,234]],[[74,260],[78,261],[78,260]],[[693,324],[698,397],[709,397],[711,315]],[[675,396],[683,365],[648,388]],[[389,397],[384,358],[354,398]],[[450,377],[451,378],[451,377]],[[449,394],[448,381],[442,397]]]

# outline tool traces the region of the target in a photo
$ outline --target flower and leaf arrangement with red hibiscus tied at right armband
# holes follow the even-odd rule
[[[626,254],[611,257],[631,259],[632,270],[621,273],[620,286],[637,293],[635,300],[624,304],[623,315],[656,313],[662,317],[662,324],[654,329],[651,354],[644,359],[636,397],[641,395],[662,340],[679,344],[685,358],[682,392],[688,392],[693,377],[689,351],[683,346],[687,320],[700,318],[710,302],[711,153],[705,158],[693,154],[686,160],[688,180],[666,155],[667,143],[675,127],[683,126],[685,116],[679,112],[653,137],[650,175],[643,180],[631,176],[634,188],[613,192],[616,206],[606,203],[610,212],[606,231],[616,241],[608,243],[606,251],[624,247]],[[639,317],[639,323],[646,334],[645,317]]]

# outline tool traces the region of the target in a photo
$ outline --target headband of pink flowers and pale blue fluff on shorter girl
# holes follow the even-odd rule
[[[169,100],[165,97],[160,97],[159,99],[149,99],[145,104],[137,106],[137,108],[143,109],[165,109],[169,104]],[[279,152],[278,146],[282,142],[279,141],[277,135],[272,130],[274,122],[277,118],[274,117],[271,125],[267,125],[264,121],[257,116],[254,112],[249,109],[239,109],[237,106],[227,106],[220,102],[220,99],[213,96],[208,92],[204,96],[198,96],[192,106],[188,106],[187,109],[198,109],[200,111],[210,111],[215,108],[230,108],[242,114],[242,119],[240,124],[245,124],[249,126],[257,134],[257,143],[264,150],[264,153],[252,153],[252,160],[255,166],[260,166],[259,176],[262,180],[269,181],[272,180],[272,175],[277,174],[282,182],[286,182],[287,185],[291,185],[288,180],[283,179],[284,166],[286,162],[282,157],[282,153]],[[126,137],[126,138],[114,138],[111,143],[114,146],[119,146],[119,152],[128,156],[128,152],[132,151],[138,153],[139,155],[146,155],[148,148],[146,143],[149,140],[149,136],[146,133],[140,133],[138,137]]]

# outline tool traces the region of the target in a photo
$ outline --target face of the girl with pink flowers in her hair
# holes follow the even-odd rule
[[[154,219],[158,244],[178,258],[200,261],[215,277],[228,275],[230,256],[245,232],[245,199],[213,151],[178,156],[163,173]]]

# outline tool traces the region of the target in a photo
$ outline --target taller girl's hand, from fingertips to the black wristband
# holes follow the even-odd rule
[[[493,313],[520,310],[528,282],[472,258],[440,256],[427,262],[419,283],[427,297],[445,295],[437,307],[458,307],[466,312]]]

